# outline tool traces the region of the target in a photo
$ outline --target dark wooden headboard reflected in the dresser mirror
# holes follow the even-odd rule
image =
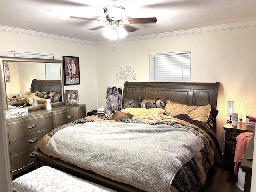
[[[61,81],[60,80],[38,80],[33,79],[31,82],[30,92],[36,91],[54,91],[61,93]]]

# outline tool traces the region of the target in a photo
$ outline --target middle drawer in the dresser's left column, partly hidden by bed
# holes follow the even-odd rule
[[[10,154],[14,155],[26,151],[30,148],[34,148],[37,141],[40,140],[45,134],[47,134],[50,131],[51,129],[48,131],[37,132],[19,139],[11,140]]]

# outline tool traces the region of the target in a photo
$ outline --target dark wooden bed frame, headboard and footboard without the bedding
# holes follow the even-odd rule
[[[123,100],[127,99],[152,99],[172,100],[184,104],[207,105],[216,108],[219,83],[150,83],[150,82],[125,82]],[[32,152],[35,158],[35,168],[51,166],[72,175],[90,180],[94,183],[112,188],[120,192],[143,192],[134,186],[116,182],[90,170],[84,170],[58,158],[49,157],[40,151]]]

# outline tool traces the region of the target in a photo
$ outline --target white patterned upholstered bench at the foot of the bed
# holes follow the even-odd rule
[[[48,166],[16,178],[11,185],[17,192],[116,192]]]

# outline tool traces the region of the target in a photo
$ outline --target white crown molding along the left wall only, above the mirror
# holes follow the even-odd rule
[[[37,37],[42,37],[42,38],[49,38],[49,39],[68,41],[68,42],[74,42],[74,43],[95,45],[95,42],[92,42],[92,41],[86,41],[86,40],[81,40],[81,39],[75,39],[75,38],[69,38],[69,37],[64,37],[64,36],[52,35],[52,34],[30,31],[30,30],[26,30],[26,29],[7,27],[7,26],[2,26],[2,25],[0,25],[0,31],[17,33],[17,34],[32,35],[32,36],[37,36]]]

